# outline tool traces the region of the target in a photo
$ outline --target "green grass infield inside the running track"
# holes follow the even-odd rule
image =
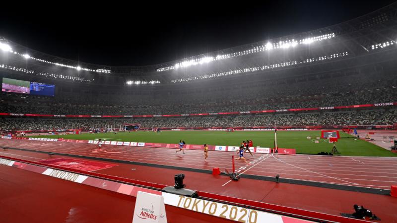
[[[320,131],[278,131],[277,146],[279,148],[294,148],[300,154],[317,154],[319,152],[330,152],[332,144],[320,139],[320,143],[314,143],[307,136],[320,136]],[[36,137],[36,136],[35,136]],[[154,142],[154,143],[178,143],[184,140],[187,144],[204,144],[220,146],[239,146],[244,140],[251,139],[254,146],[274,147],[274,132],[248,132],[248,131],[162,131],[156,132],[119,132],[114,133],[86,133],[80,135],[42,135],[42,138],[65,138],[65,139],[99,139],[114,140],[125,142]],[[340,139],[336,147],[342,156],[382,156],[397,157],[392,153],[377,145],[356,139],[349,134],[340,132]]]

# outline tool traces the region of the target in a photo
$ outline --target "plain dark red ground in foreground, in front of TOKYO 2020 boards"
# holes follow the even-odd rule
[[[135,197],[0,165],[2,223],[131,223]],[[166,205],[172,223],[232,221]]]

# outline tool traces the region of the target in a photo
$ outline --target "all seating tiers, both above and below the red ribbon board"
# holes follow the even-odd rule
[[[68,93],[55,97],[15,94],[0,95],[0,112],[38,114],[139,115],[189,114],[233,111],[284,110],[293,108],[336,107],[394,102],[397,98],[394,76],[350,75],[333,79],[277,83],[241,87],[243,90],[189,92],[168,95],[165,92],[131,97]],[[220,88],[222,89],[222,88]],[[276,112],[270,114],[210,115],[204,117],[153,118],[14,118],[0,119],[0,129],[63,129],[118,127],[122,123],[140,123],[142,127],[228,127],[289,125],[372,125],[394,124],[397,110],[330,111],[320,113]]]

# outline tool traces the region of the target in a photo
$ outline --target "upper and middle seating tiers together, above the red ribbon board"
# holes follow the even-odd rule
[[[326,84],[325,84],[326,82]],[[169,96],[67,93],[55,97],[0,95],[0,112],[41,114],[187,114],[318,108],[393,102],[396,79],[348,76],[239,90]]]

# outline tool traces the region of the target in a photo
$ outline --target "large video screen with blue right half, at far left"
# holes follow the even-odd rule
[[[54,96],[55,85],[3,77],[1,91],[28,95]]]

